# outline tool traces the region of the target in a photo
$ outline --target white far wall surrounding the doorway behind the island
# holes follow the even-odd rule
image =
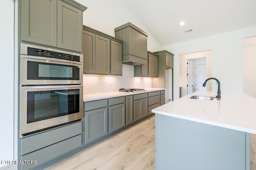
[[[250,27],[161,47],[175,54],[174,99],[179,98],[179,55],[206,50],[212,50],[212,76],[224,80],[221,92],[243,92],[242,39],[254,35],[256,27]]]

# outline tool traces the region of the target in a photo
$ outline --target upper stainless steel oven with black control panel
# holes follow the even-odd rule
[[[20,84],[82,84],[83,55],[20,45]]]

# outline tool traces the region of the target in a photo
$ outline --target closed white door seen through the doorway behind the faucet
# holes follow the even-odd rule
[[[195,91],[206,91],[206,87],[203,87],[206,80],[206,64],[197,64],[195,69],[196,86]]]

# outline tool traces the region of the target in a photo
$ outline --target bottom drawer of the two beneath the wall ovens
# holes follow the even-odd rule
[[[52,160],[66,152],[82,146],[82,135],[78,135],[49,147],[37,150],[21,157],[21,160],[37,160],[37,164],[22,164],[22,170],[28,170],[49,160]]]

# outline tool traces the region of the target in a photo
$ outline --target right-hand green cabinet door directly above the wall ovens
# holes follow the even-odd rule
[[[82,11],[58,0],[57,47],[82,52]]]

